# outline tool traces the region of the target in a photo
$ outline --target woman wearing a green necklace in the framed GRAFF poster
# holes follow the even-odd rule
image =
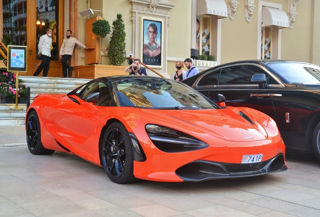
[[[143,44],[143,63],[146,65],[161,65],[161,47],[157,44],[157,27],[149,23],[147,27],[148,43]]]

